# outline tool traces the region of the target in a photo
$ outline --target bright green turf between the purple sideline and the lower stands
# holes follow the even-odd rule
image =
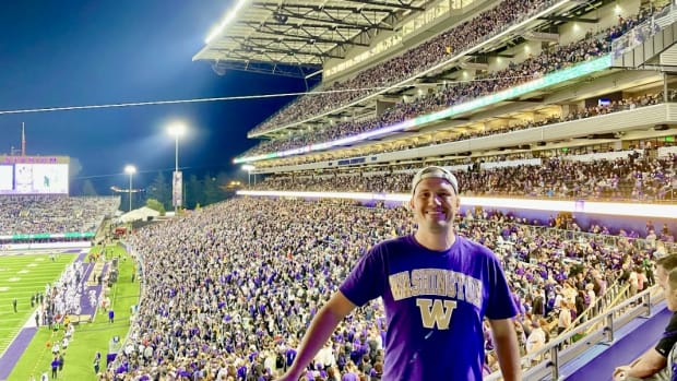
[[[107,314],[99,310],[93,323],[82,323],[75,328],[73,340],[63,356],[64,366],[63,372],[59,374],[60,380],[96,380],[93,368],[96,352],[102,354],[100,367],[104,370],[110,338],[115,335],[121,338],[127,336],[130,308],[139,301],[139,283],[131,283],[133,271],[131,258],[119,247],[115,247],[114,250],[114,257],[120,258],[118,282],[110,288],[110,300],[116,315],[115,323],[108,323]],[[40,328],[8,381],[25,381],[31,374],[38,379],[43,371],[48,371],[51,376],[49,366],[52,359],[51,348],[47,346],[47,343],[62,337],[62,331],[55,334],[47,328]]]

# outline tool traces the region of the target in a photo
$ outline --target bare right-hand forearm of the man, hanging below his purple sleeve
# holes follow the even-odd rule
[[[496,345],[496,355],[501,368],[503,380],[522,380],[522,368],[520,367],[520,348],[518,345],[518,334],[511,319],[491,320],[491,332]]]

